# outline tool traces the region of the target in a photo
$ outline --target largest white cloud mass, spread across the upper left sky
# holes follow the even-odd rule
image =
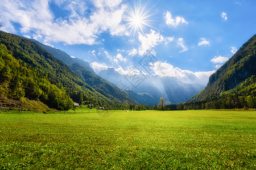
[[[68,10],[69,16],[55,18],[49,7],[56,3]],[[89,16],[84,15],[86,3],[73,3],[67,0],[2,0],[0,3],[0,29],[45,42],[64,42],[64,44],[97,44],[102,32],[112,36],[125,35],[125,25],[121,23],[126,5],[121,0],[97,0],[88,3],[96,7]],[[77,5],[79,4],[79,6]],[[14,24],[20,25],[15,28]]]

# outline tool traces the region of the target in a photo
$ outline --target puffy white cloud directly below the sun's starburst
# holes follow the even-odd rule
[[[139,54],[143,56],[147,52],[150,52],[152,48],[159,44],[159,42],[170,42],[174,40],[173,37],[164,38],[160,33],[150,29],[150,33],[146,33],[144,36],[139,33],[139,41],[141,45],[139,46]]]

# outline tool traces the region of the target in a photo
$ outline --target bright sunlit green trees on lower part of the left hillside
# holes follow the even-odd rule
[[[60,110],[69,109],[73,104],[64,88],[51,84],[42,70],[28,69],[27,64],[11,56],[3,44],[0,45],[0,93],[8,99],[41,100]]]

